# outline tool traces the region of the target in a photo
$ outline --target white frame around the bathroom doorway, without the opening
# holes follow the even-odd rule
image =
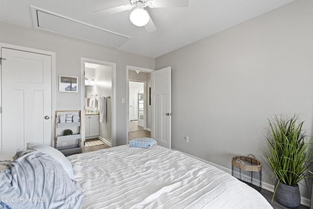
[[[112,67],[112,147],[116,146],[116,63],[106,62],[102,60],[94,60],[89,58],[81,58],[81,100],[80,100],[80,109],[81,109],[81,125],[85,127],[85,62],[94,63],[98,65],[105,65]],[[85,129],[81,129],[82,132],[82,143],[85,142]],[[85,152],[85,146],[83,146],[83,152]]]

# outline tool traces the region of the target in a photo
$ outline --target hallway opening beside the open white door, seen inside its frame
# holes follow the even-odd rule
[[[151,136],[150,69],[128,66],[128,141]],[[128,142],[127,141],[127,142]]]

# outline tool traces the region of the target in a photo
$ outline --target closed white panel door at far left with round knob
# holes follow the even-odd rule
[[[2,150],[51,145],[51,56],[1,48]]]

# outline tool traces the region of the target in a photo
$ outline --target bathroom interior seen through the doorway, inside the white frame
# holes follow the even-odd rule
[[[85,62],[86,152],[112,146],[111,98],[112,66]]]

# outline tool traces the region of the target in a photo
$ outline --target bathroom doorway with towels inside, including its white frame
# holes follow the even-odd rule
[[[84,151],[115,146],[115,64],[82,58],[82,66]]]

